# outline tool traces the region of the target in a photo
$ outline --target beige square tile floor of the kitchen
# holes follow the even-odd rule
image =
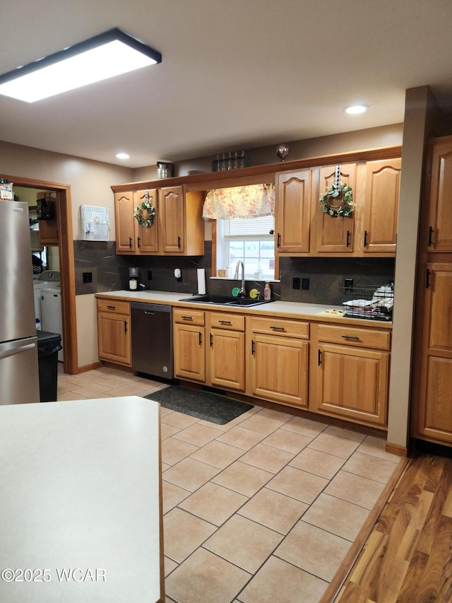
[[[167,385],[65,375],[59,401]],[[318,603],[400,460],[384,440],[254,406],[216,425],[161,409],[167,603]]]

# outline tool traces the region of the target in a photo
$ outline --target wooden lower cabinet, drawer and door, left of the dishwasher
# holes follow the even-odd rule
[[[100,360],[131,366],[129,302],[97,300],[97,346]]]

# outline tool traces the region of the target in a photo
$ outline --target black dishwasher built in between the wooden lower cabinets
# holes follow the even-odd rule
[[[132,368],[138,373],[172,379],[172,308],[131,303]]]

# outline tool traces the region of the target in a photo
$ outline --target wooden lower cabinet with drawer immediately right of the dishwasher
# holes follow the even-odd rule
[[[191,381],[206,380],[206,327],[204,312],[175,309],[174,377]]]

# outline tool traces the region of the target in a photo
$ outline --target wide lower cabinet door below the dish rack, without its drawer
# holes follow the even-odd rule
[[[317,410],[386,425],[388,366],[387,352],[319,346]]]

